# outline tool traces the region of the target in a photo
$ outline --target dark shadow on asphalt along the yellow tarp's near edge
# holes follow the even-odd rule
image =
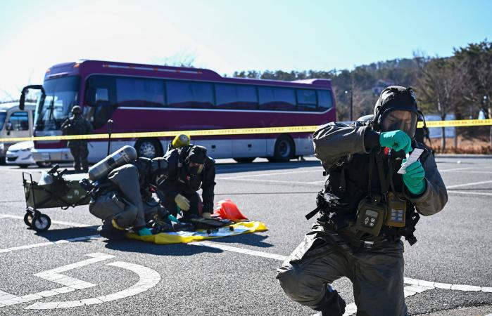
[[[158,256],[193,256],[204,252],[220,254],[221,249],[207,246],[194,246],[190,244],[154,244],[139,240],[114,240],[106,241],[106,248],[116,251],[136,252],[140,254],[153,254]]]

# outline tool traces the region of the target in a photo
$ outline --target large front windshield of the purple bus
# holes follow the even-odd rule
[[[77,104],[79,77],[63,77],[44,81],[46,96],[37,105],[37,131],[56,131]]]

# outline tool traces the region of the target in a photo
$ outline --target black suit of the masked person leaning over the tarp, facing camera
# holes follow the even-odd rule
[[[168,178],[159,185],[159,190],[165,197],[163,201],[165,209],[174,216],[177,215],[176,195],[180,194],[189,199],[190,209],[183,212],[186,220],[190,216],[200,216],[202,212],[213,213],[215,161],[211,157],[206,157],[203,171],[196,176],[190,176],[183,161],[184,157],[180,157],[183,148],[186,147],[166,152],[164,158],[168,161]],[[196,192],[200,188],[203,210],[199,209],[200,198]]]

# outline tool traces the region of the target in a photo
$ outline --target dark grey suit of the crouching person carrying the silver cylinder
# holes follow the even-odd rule
[[[121,228],[144,228],[156,213],[165,218],[168,213],[152,197],[150,159],[139,158],[108,174],[100,192],[89,204],[89,211],[103,221],[115,219]]]

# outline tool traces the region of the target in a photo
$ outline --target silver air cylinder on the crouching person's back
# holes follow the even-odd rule
[[[107,176],[111,170],[137,159],[137,150],[132,146],[123,146],[108,157],[89,168],[89,179],[95,181]]]

